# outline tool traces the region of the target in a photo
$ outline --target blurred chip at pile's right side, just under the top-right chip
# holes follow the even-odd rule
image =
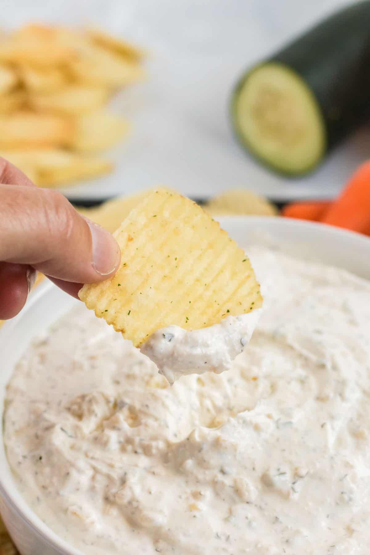
[[[69,69],[74,78],[83,83],[111,88],[134,83],[144,76],[139,64],[93,45],[72,60]]]

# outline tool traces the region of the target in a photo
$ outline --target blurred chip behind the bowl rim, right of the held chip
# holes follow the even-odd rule
[[[230,189],[215,196],[204,206],[212,216],[260,215],[276,216],[277,208],[263,196],[247,189]]]

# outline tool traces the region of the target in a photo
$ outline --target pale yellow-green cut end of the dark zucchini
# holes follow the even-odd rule
[[[325,154],[320,106],[287,65],[267,62],[247,73],[232,98],[232,120],[241,143],[281,173],[307,173]]]

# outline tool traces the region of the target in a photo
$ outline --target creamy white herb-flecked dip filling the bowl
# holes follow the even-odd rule
[[[370,284],[248,254],[264,308],[229,371],[169,386],[83,305],[14,371],[17,484],[83,553],[368,553]]]

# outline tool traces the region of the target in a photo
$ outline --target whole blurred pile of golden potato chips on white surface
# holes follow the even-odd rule
[[[29,24],[0,41],[0,155],[39,186],[112,169],[95,153],[123,138],[126,119],[105,107],[144,76],[143,52],[96,29]]]

